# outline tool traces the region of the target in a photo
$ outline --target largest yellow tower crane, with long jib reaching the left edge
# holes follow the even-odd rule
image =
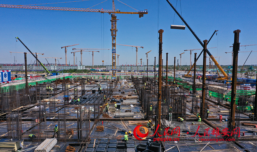
[[[38,10],[63,10],[63,11],[79,11],[79,12],[99,12],[111,14],[111,37],[112,37],[112,77],[116,79],[116,13],[120,14],[139,14],[139,18],[143,17],[144,14],[148,14],[148,10],[136,10],[136,12],[122,12],[116,11],[114,6],[114,0],[112,0],[112,10],[103,9],[90,9],[90,8],[67,8],[67,7],[44,7],[44,6],[27,6],[27,5],[9,5],[0,4],[0,7],[5,8],[24,8],[24,9],[38,9]],[[67,58],[65,58],[67,60]],[[67,61],[66,61],[67,62]],[[67,65],[67,63],[66,63]]]

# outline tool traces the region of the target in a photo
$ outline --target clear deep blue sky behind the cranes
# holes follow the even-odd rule
[[[94,8],[112,10],[112,1],[107,0],[88,0],[69,3],[69,0],[2,0],[1,4],[27,5],[42,4],[37,6],[51,7],[70,7],[70,8]],[[103,3],[101,3],[103,2]],[[132,8],[115,2],[115,8],[121,11],[134,11]],[[190,54],[187,49],[202,48],[193,34],[186,27],[185,30],[170,29],[170,25],[185,25],[182,23],[174,10],[169,6],[166,0],[147,1],[147,0],[122,0],[137,10],[148,10],[148,14],[139,18],[137,14],[117,14],[117,44],[127,44],[143,46],[138,48],[137,62],[140,64],[142,58],[146,65],[146,52],[148,54],[149,64],[154,64],[154,56],[158,56],[158,30],[163,29],[163,59],[166,59],[166,53],[169,53],[168,65],[173,65],[174,56],[180,59],[182,54],[182,65],[189,65]],[[173,6],[175,0],[170,0]],[[56,3],[56,4],[45,4]],[[101,4],[99,4],[101,3]],[[218,34],[214,35],[207,47],[217,47],[209,49],[213,56],[222,56],[219,60],[220,65],[231,64],[231,53],[234,42],[234,30],[241,30],[239,42],[241,45],[257,44],[257,9],[256,1],[189,1],[181,0],[177,4],[177,10],[201,39],[209,39],[215,30]],[[98,4],[98,5],[96,5]],[[96,5],[96,6],[94,6]],[[34,6],[34,5],[32,5]],[[94,6],[94,7],[92,7]],[[159,6],[159,7],[158,7]],[[24,55],[13,52],[28,52],[26,48],[15,37],[19,37],[25,45],[32,51],[44,53],[41,57],[59,57],[59,62],[65,64],[65,51],[62,46],[79,44],[75,48],[111,48],[111,15],[108,13],[92,12],[71,12],[57,10],[32,10],[17,8],[0,8],[0,50],[2,59],[0,63],[13,64],[14,56],[17,63],[24,63]],[[73,64],[72,48],[67,47],[67,63]],[[117,45],[116,52],[119,54],[119,65],[135,65],[136,51],[135,47]],[[241,51],[257,51],[256,46],[240,47]],[[192,52],[200,53],[201,50]],[[83,65],[92,65],[92,53],[83,52]],[[239,53],[238,65],[243,65],[249,53]],[[252,52],[246,64],[257,64],[257,52]],[[80,61],[80,53],[76,53],[77,62]],[[34,62],[32,55],[27,55],[27,62]],[[45,59],[39,58],[42,63],[47,63]],[[111,65],[111,50],[104,50],[100,53],[94,53],[94,65]],[[54,63],[54,59],[48,59],[48,62]],[[157,61],[158,62],[158,61]],[[176,61],[177,62],[177,61]],[[179,60],[180,62],[180,60]],[[58,62],[57,62],[58,63]],[[197,65],[202,64],[202,57]]]

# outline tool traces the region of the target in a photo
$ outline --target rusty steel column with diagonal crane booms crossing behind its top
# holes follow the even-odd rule
[[[203,62],[203,87],[202,87],[202,103],[201,103],[201,116],[202,119],[205,119],[205,74],[206,74],[206,46],[207,40],[204,40],[204,62]]]

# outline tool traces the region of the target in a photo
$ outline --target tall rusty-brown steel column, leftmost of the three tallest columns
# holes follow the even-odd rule
[[[162,80],[162,33],[163,30],[160,29],[158,31],[159,33],[159,69],[158,69],[158,115],[157,115],[157,119],[158,119],[158,124],[160,125],[159,127],[159,131],[161,128],[161,80]]]

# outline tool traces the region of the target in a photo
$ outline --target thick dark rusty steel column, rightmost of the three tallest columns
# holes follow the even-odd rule
[[[235,129],[235,97],[236,97],[236,80],[237,80],[237,61],[239,51],[239,33],[240,30],[235,30],[234,44],[233,44],[233,68],[232,68],[232,86],[231,86],[231,103],[230,103],[230,121],[228,123],[229,130]]]

